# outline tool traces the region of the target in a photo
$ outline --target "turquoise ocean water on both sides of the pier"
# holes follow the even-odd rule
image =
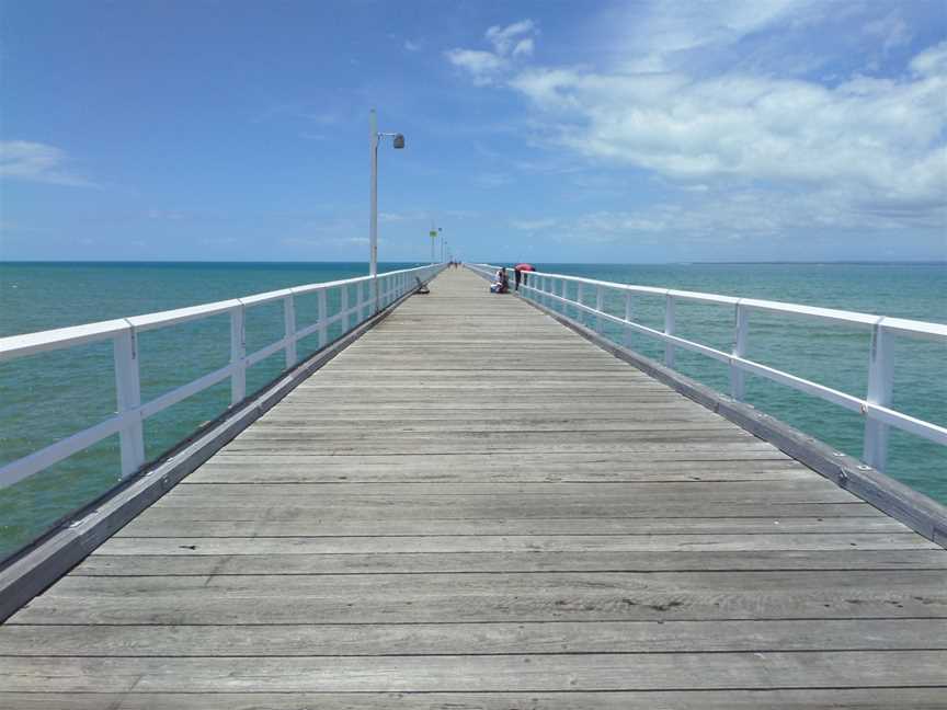
[[[385,264],[383,270],[417,264]],[[536,264],[544,271],[647,286],[766,298],[883,316],[947,322],[947,264]],[[361,276],[364,263],[0,263],[0,336],[155,312],[308,283]],[[572,295],[574,297],[574,294]],[[609,312],[624,302],[606,299]],[[330,301],[330,313],[338,297]],[[660,328],[660,298],[636,296],[636,319]],[[315,321],[315,297],[299,299],[300,325]],[[721,350],[732,346],[732,308],[677,306],[677,332]],[[247,351],[282,335],[282,306],[254,308],[247,319]],[[140,335],[142,401],[224,366],[229,318],[215,316]],[[606,324],[605,333],[624,333]],[[336,325],[335,333],[339,334]],[[514,333],[511,333],[511,342]],[[300,341],[300,355],[316,350]],[[751,319],[749,356],[794,375],[864,396],[869,333],[856,327],[786,317]],[[663,346],[634,335],[632,346],[660,358]],[[248,373],[248,392],[278,375],[283,354]],[[729,391],[727,368],[678,352],[677,368]],[[899,339],[894,406],[947,425],[947,346]],[[859,455],[860,416],[788,388],[748,377],[748,401],[832,446]],[[157,457],[229,403],[224,381],[146,422],[149,458]],[[106,419],[115,409],[111,343],[84,345],[0,363],[0,465]],[[947,502],[947,451],[892,433],[889,473]],[[118,478],[117,436],[0,490],[0,558],[111,488]]]

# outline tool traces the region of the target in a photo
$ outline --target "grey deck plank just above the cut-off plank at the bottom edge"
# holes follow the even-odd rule
[[[947,652],[360,657],[12,657],[7,691],[549,691],[947,685]]]

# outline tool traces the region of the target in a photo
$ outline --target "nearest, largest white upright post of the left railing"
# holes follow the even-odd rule
[[[141,424],[141,379],[138,370],[138,334],[128,330],[113,341],[115,358],[115,400],[118,415],[126,420],[118,433],[122,453],[122,478],[130,476],[145,463],[145,428]]]

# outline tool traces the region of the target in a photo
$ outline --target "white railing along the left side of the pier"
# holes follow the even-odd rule
[[[328,345],[329,327],[342,323],[342,334],[349,332],[375,312],[387,307],[404,294],[417,288],[418,280],[426,283],[444,266],[431,264],[418,268],[378,274],[377,279],[370,276],[349,278],[345,280],[327,282],[295,286],[282,290],[256,294],[243,298],[191,306],[160,313],[134,316],[85,325],[73,325],[57,330],[27,333],[0,337],[0,362],[11,360],[26,355],[46,351],[64,350],[111,340],[114,352],[116,412],[114,416],[94,426],[83,430],[55,444],[46,446],[23,458],[0,467],[0,488],[11,485],[34,473],[43,471],[54,463],[73,454],[89,448],[107,436],[118,434],[122,456],[122,476],[127,477],[145,463],[145,435],[142,424],[146,419],[168,409],[172,404],[201,392],[202,390],[230,378],[230,401],[236,404],[247,396],[247,369],[256,363],[284,351],[286,369],[298,362],[297,342],[318,333],[319,348]],[[328,316],[328,294],[338,289],[340,293],[340,309],[333,316]],[[349,304],[349,293],[357,294],[354,304]],[[295,298],[315,294],[318,299],[318,319],[305,328],[297,328]],[[283,304],[283,337],[247,354],[244,319],[247,309],[282,301]],[[230,362],[226,366],[204,375],[182,387],[157,397],[149,402],[141,402],[141,385],[138,358],[138,334],[142,331],[167,328],[187,321],[196,321],[212,316],[230,314]],[[354,317],[354,322],[352,318]],[[340,335],[341,337],[341,335]]]

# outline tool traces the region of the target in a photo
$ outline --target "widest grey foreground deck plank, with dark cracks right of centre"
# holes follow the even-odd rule
[[[67,576],[15,623],[945,618],[945,572]]]

